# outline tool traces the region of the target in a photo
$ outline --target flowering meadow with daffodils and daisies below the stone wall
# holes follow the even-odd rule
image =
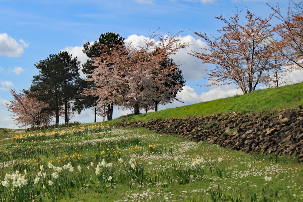
[[[0,201],[303,200],[295,157],[102,123],[0,137]]]

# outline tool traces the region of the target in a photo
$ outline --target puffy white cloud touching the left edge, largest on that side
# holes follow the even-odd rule
[[[0,55],[5,55],[9,57],[19,57],[24,53],[22,46],[28,47],[22,39],[20,40],[21,45],[17,43],[15,39],[8,36],[6,33],[0,33]],[[27,46],[25,46],[27,45]]]

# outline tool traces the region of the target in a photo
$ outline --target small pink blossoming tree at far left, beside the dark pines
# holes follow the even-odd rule
[[[54,114],[45,110],[48,108],[48,103],[28,97],[26,94],[18,94],[12,89],[11,94],[14,100],[6,104],[6,107],[12,112],[13,120],[21,124],[20,127],[48,124],[52,121]]]

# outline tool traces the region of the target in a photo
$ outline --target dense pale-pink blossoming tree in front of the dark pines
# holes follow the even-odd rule
[[[87,94],[98,96],[99,102],[119,103],[124,107],[134,108],[138,114],[141,106],[153,106],[153,99],[172,102],[176,92],[181,90],[180,84],[172,84],[176,64],[163,68],[161,63],[164,58],[174,55],[180,48],[185,48],[188,43],[181,42],[177,35],[158,36],[152,35],[145,40],[145,44],[126,47],[113,45],[111,54],[107,46],[100,46],[100,57],[95,57],[93,64],[97,68],[92,70],[87,81],[95,83],[95,89],[87,89]],[[152,51],[157,48],[157,54]]]

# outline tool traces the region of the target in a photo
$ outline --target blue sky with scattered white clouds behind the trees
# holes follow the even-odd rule
[[[192,104],[240,93],[234,86],[221,88],[198,87],[205,84],[205,68],[201,61],[187,55],[200,50],[205,43],[193,34],[202,31],[217,35],[222,23],[214,17],[228,17],[238,8],[246,8],[258,16],[267,17],[271,9],[266,5],[288,6],[287,0],[134,0],[134,1],[6,1],[0,0],[0,127],[16,127],[4,103],[12,99],[9,88],[17,92],[29,88],[38,73],[34,64],[50,53],[68,50],[83,62],[81,46],[95,41],[104,32],[117,32],[128,41],[138,41],[137,35],[147,37],[148,31],[177,33],[193,45],[183,50],[175,61],[181,65],[186,82],[179,98],[185,103],[169,104],[163,108]],[[244,18],[241,18],[244,21]],[[277,21],[274,20],[273,24]],[[115,109],[114,117],[127,111]],[[93,121],[91,111],[77,115],[74,120]],[[99,119],[101,121],[101,119]]]

